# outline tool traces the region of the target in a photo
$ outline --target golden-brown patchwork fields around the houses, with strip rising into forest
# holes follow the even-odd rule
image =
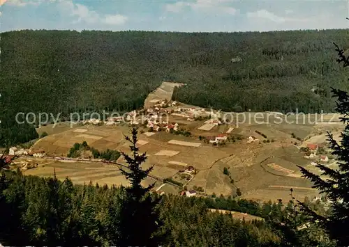
[[[181,84],[163,82],[157,90],[149,94],[144,103],[145,107],[162,100],[170,101],[176,86]],[[299,200],[305,196],[317,196],[317,191],[311,189],[311,182],[302,178],[297,165],[314,173],[318,173],[318,170],[311,165],[309,159],[304,158],[299,148],[307,143],[325,143],[327,131],[339,138],[343,128],[339,122],[331,122],[331,125],[316,122],[317,115],[309,115],[308,122],[299,122],[298,115],[283,115],[284,119],[280,121],[279,113],[228,113],[225,114],[225,120],[230,123],[218,126],[209,123],[210,120],[189,121],[181,115],[183,114],[170,115],[169,121],[176,122],[182,129],[191,132],[191,137],[167,132],[148,132],[148,129],[141,127],[142,134],[138,136],[137,145],[140,152],[147,154],[143,168],[154,166],[151,175],[176,179],[186,166],[193,166],[196,173],[186,184],[188,189],[200,186],[206,194],[228,196],[234,195],[239,188],[242,197],[253,200],[288,201],[290,188],[294,189]],[[285,121],[286,118],[288,122]],[[333,114],[327,114],[323,120],[332,118]],[[41,138],[33,148],[43,149],[50,156],[66,156],[74,143],[82,141],[87,141],[98,150],[129,152],[129,143],[124,139],[124,134],[129,134],[126,125],[74,125],[70,128],[68,124],[61,123],[55,128],[47,125],[38,129],[39,134],[43,132],[49,135]],[[229,134],[235,138],[223,146],[213,146],[200,140],[218,134]],[[248,143],[248,137],[258,141]],[[125,164],[122,156],[118,162]],[[331,163],[329,166],[336,164]],[[54,168],[57,177],[64,179],[68,176],[73,182],[80,184],[90,180],[98,184],[128,184],[117,167],[98,163],[48,161],[47,164],[25,173],[49,176],[53,174]],[[229,176],[223,173],[224,168],[228,168]],[[149,178],[145,183],[151,182],[154,181]],[[178,189],[170,184],[161,187],[161,190],[165,193],[178,193]]]

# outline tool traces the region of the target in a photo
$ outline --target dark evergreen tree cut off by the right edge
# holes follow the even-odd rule
[[[337,62],[343,63],[343,67],[348,67],[349,57],[346,57],[344,51],[339,49],[336,44],[334,45],[339,54]],[[337,98],[336,111],[343,115],[341,122],[345,125],[340,142],[334,140],[333,135],[327,132],[329,145],[332,154],[337,157],[339,169],[334,170],[318,164],[317,167],[322,171],[322,175],[329,177],[325,180],[299,166],[303,177],[314,183],[313,188],[319,189],[320,193],[325,193],[327,198],[332,201],[332,212],[328,217],[320,216],[304,203],[299,203],[304,212],[311,216],[312,223],[323,225],[330,237],[337,240],[339,246],[349,246],[349,95],[347,92],[334,88],[332,88],[332,93],[333,97]]]

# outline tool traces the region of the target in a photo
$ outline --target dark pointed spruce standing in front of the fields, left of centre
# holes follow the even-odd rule
[[[145,153],[138,153],[139,148],[136,146],[138,128],[134,125],[131,127],[131,135],[131,138],[125,136],[126,141],[131,143],[131,156],[121,153],[128,164],[128,169],[121,169],[121,173],[125,175],[131,186],[125,189],[126,196],[121,201],[116,244],[117,246],[159,246],[160,237],[156,233],[161,223],[157,206],[161,198],[150,193],[155,184],[147,187],[141,184],[153,166],[146,170],[142,169],[147,156]]]

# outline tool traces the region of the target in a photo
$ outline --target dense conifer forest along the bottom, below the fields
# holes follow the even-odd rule
[[[0,243],[4,246],[119,246],[119,214],[125,188],[77,186],[66,179],[0,174]],[[264,216],[250,223],[214,214],[208,206]],[[231,198],[164,196],[161,246],[283,246],[271,222],[282,204],[263,206]],[[132,224],[132,223],[131,223]],[[147,228],[147,225],[144,225]],[[18,237],[20,236],[20,237]]]

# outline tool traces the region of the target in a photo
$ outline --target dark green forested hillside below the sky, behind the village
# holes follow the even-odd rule
[[[225,111],[332,111],[348,89],[334,63],[348,30],[267,33],[13,31],[1,33],[0,87],[15,111],[128,111],[160,85]]]

